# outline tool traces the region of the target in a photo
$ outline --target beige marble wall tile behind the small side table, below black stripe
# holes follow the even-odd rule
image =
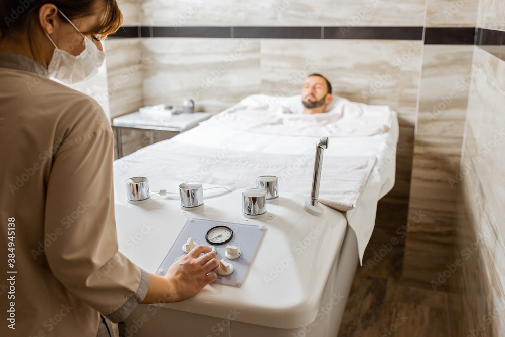
[[[144,102],[218,113],[260,92],[260,42],[252,39],[157,38],[142,41]]]

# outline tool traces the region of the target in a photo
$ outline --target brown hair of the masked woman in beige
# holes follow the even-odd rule
[[[105,6],[102,22],[83,34],[96,34],[102,36],[115,33],[123,23],[123,14],[116,0],[1,0],[0,2],[0,41],[18,34],[28,34],[30,49],[38,58],[39,50],[32,32],[38,25],[38,13],[40,7],[45,4],[53,4],[65,14],[70,21],[94,14],[98,2]],[[58,14],[62,21],[66,20]]]

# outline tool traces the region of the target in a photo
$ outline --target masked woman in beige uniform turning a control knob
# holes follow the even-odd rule
[[[111,126],[93,99],[49,79],[96,74],[100,38],[122,23],[116,0],[2,0],[0,20],[0,335],[109,335],[138,303],[214,281],[205,246],[165,277],[118,252]]]

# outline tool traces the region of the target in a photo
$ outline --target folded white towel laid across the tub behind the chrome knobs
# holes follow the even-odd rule
[[[125,162],[129,164],[123,165]],[[319,201],[339,211],[355,208],[374,163],[373,157],[323,155]],[[131,163],[128,156],[123,157],[114,162],[114,168],[123,176],[198,181],[232,190],[256,187],[257,176],[275,175],[281,193],[293,192],[309,199],[314,153],[296,156],[226,151],[172,140],[143,149],[141,161]]]

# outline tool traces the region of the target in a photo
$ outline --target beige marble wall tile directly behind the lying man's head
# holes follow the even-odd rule
[[[262,40],[262,91],[298,94],[307,74],[321,72],[337,95],[415,114],[421,51],[410,41]]]

